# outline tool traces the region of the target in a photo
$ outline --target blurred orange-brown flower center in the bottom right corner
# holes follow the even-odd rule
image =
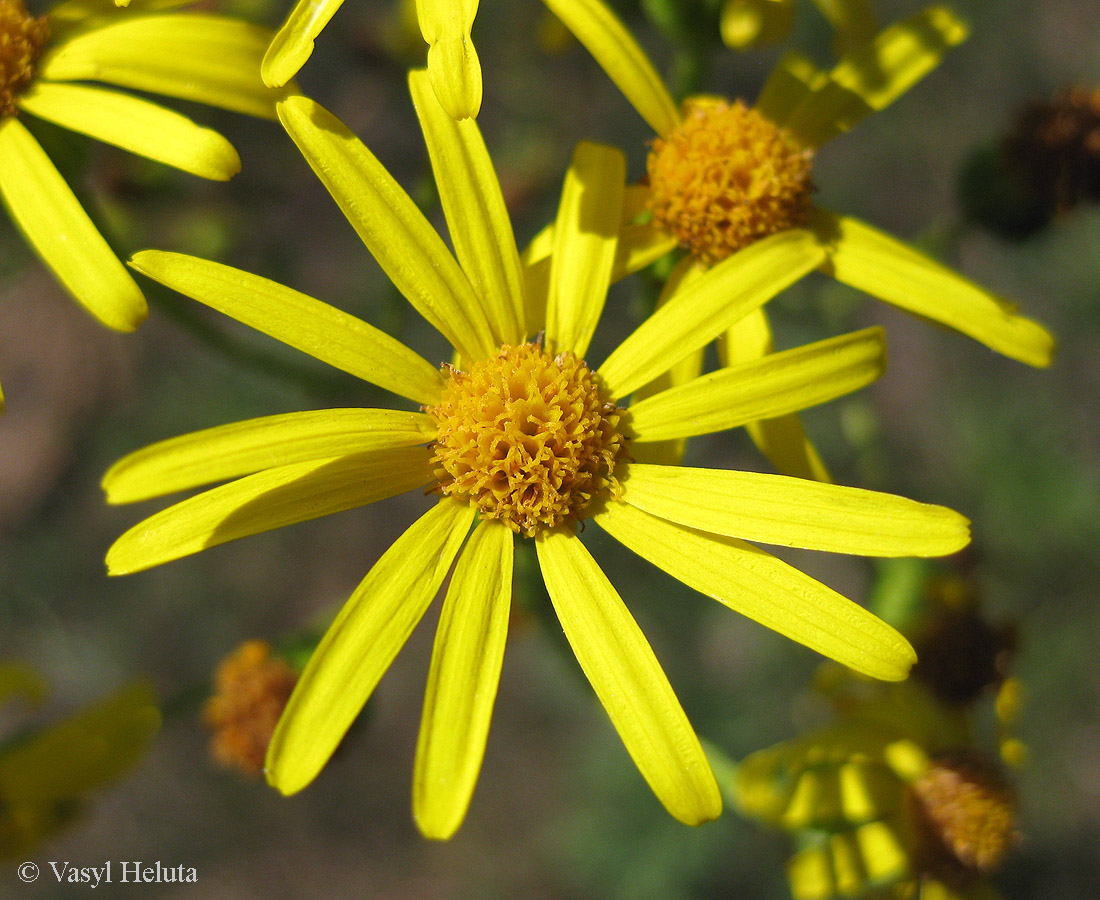
[[[946,865],[950,871],[961,864],[991,871],[1016,842],[1012,789],[981,757],[939,757],[911,788],[932,845],[933,869]]]

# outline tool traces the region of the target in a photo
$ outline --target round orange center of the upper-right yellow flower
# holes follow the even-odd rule
[[[740,100],[696,98],[653,141],[647,168],[653,221],[713,265],[810,215],[813,151]]]

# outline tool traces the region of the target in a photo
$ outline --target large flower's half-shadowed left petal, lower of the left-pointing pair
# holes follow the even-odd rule
[[[108,572],[140,572],[230,540],[404,494],[432,481],[430,460],[427,448],[403,447],[248,475],[135,525],[108,550]]]

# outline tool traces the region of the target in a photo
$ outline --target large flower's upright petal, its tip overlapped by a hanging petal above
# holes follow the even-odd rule
[[[519,252],[481,129],[475,120],[455,121],[443,110],[422,69],[409,73],[409,90],[454,254],[485,306],[494,341],[519,343],[526,337]]]

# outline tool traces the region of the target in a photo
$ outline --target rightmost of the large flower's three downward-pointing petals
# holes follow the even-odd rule
[[[703,748],[661,663],[576,535],[540,531],[539,566],[558,619],[642,777],[681,822],[722,812]]]

